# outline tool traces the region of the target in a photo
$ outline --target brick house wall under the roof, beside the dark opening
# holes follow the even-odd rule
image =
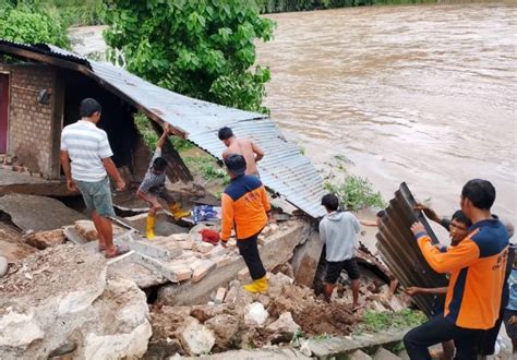
[[[38,101],[40,89],[53,88],[56,69],[44,64],[4,64],[0,72],[9,75],[8,154],[19,164],[41,172],[46,178],[58,175],[52,167],[52,133],[60,124],[53,117],[55,96],[49,104]]]

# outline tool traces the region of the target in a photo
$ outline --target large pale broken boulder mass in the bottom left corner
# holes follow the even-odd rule
[[[119,359],[145,352],[146,297],[132,281],[107,280],[101,255],[59,245],[14,266],[16,272],[0,279],[1,359],[63,351],[79,359]]]

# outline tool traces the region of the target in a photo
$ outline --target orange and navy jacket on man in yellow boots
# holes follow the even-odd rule
[[[220,238],[227,241],[236,228],[238,240],[248,239],[267,224],[269,201],[261,180],[243,175],[231,180],[223,194],[223,220]]]

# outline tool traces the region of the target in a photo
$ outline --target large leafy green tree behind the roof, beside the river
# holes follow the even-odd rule
[[[253,0],[104,0],[104,21],[109,57],[130,72],[183,95],[266,111],[270,74],[254,67],[254,41],[269,40],[274,23]]]

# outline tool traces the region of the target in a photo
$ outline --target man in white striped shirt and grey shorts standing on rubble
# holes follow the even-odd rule
[[[97,128],[100,104],[93,98],[81,101],[81,120],[64,127],[61,133],[61,165],[67,177],[67,188],[83,195],[99,236],[99,250],[106,257],[128,252],[113,245],[110,216],[115,216],[108,173],[123,190],[125,183],[111,160],[113,153],[106,132]],[[70,161],[72,160],[72,161]]]

